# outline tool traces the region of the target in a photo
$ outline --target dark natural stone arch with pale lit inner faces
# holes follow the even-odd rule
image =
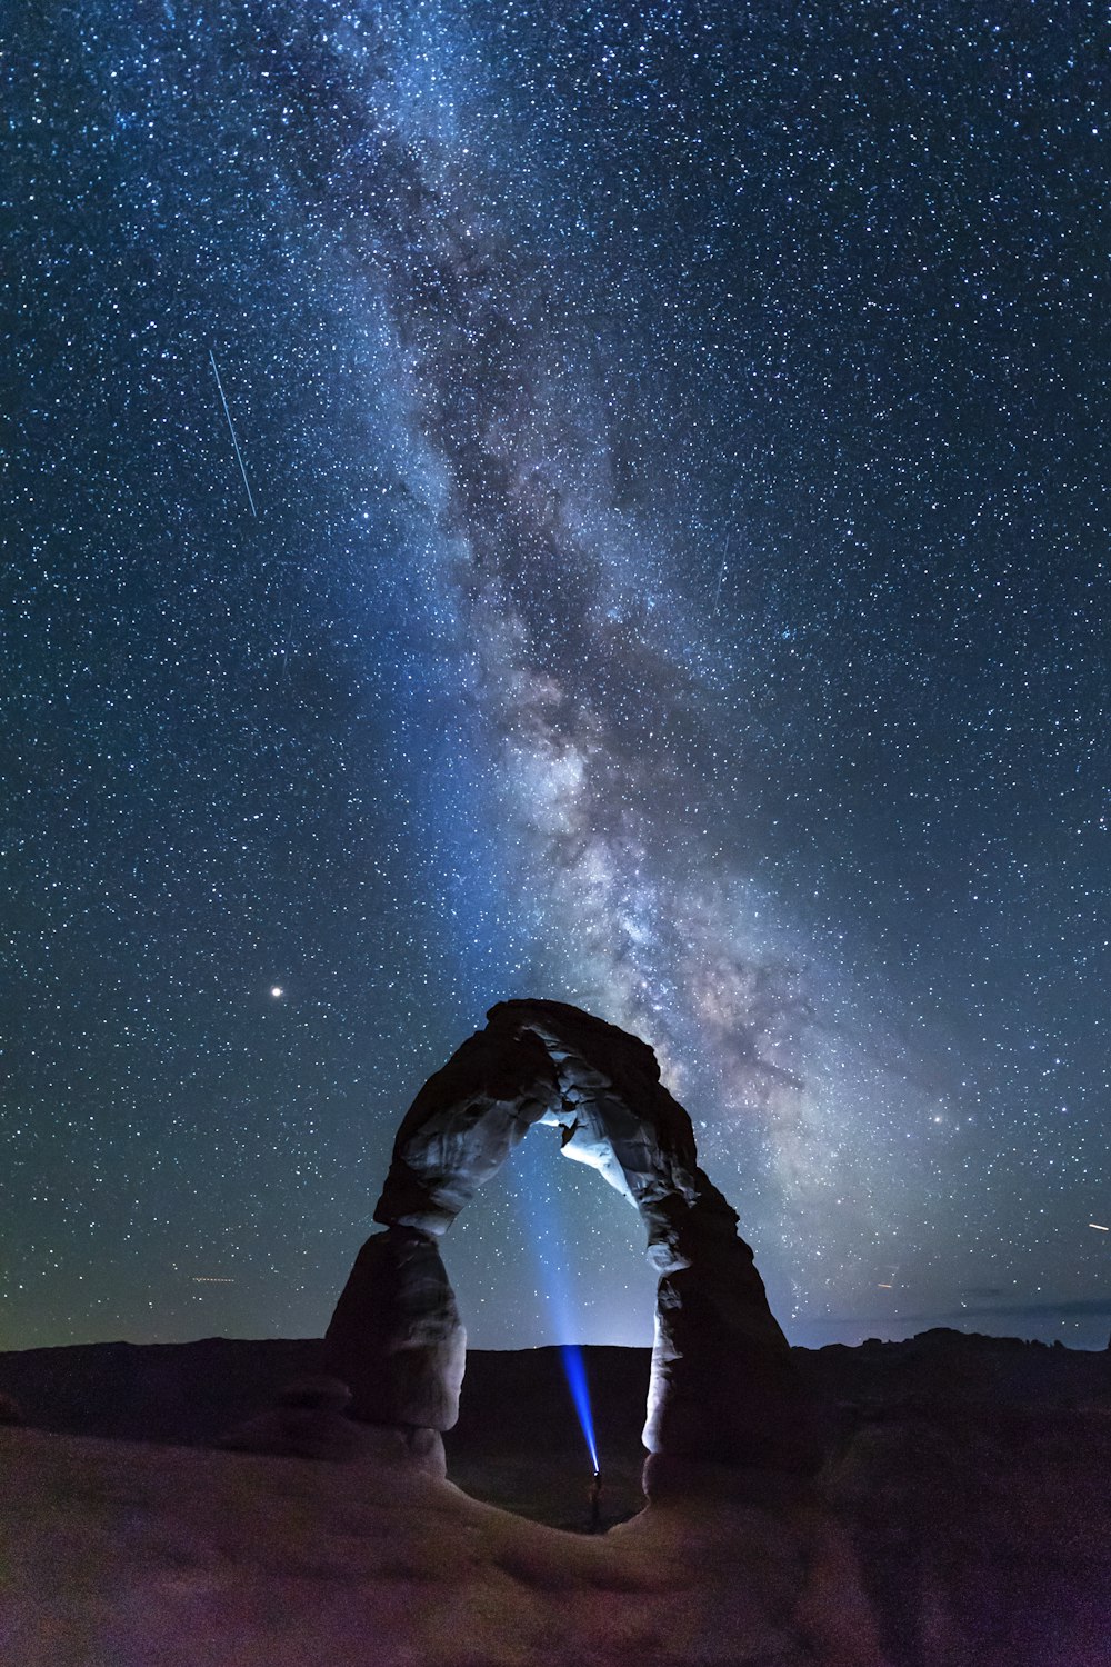
[[[753,1252],[698,1167],[695,1132],[638,1037],[563,1002],[500,1002],[398,1130],[375,1220],[336,1304],[326,1369],[373,1424],[448,1430],[466,1334],[438,1239],[533,1124],[638,1210],[660,1272],[650,1454],[810,1469],[813,1442]]]

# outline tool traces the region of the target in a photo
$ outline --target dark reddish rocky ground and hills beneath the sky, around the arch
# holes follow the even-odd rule
[[[640,1494],[648,1355],[586,1350],[608,1532],[555,1350],[473,1354],[438,1452],[210,1442],[316,1342],[0,1355],[0,1660],[1109,1667],[1111,1354],[931,1332],[796,1352],[813,1484]],[[458,1485],[453,1485],[458,1484]]]

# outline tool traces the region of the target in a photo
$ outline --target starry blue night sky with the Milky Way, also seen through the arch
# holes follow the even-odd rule
[[[793,1342],[1104,1345],[1096,22],[23,5],[0,1347],[320,1335],[508,995]],[[641,1247],[535,1130],[445,1257],[643,1344]]]

